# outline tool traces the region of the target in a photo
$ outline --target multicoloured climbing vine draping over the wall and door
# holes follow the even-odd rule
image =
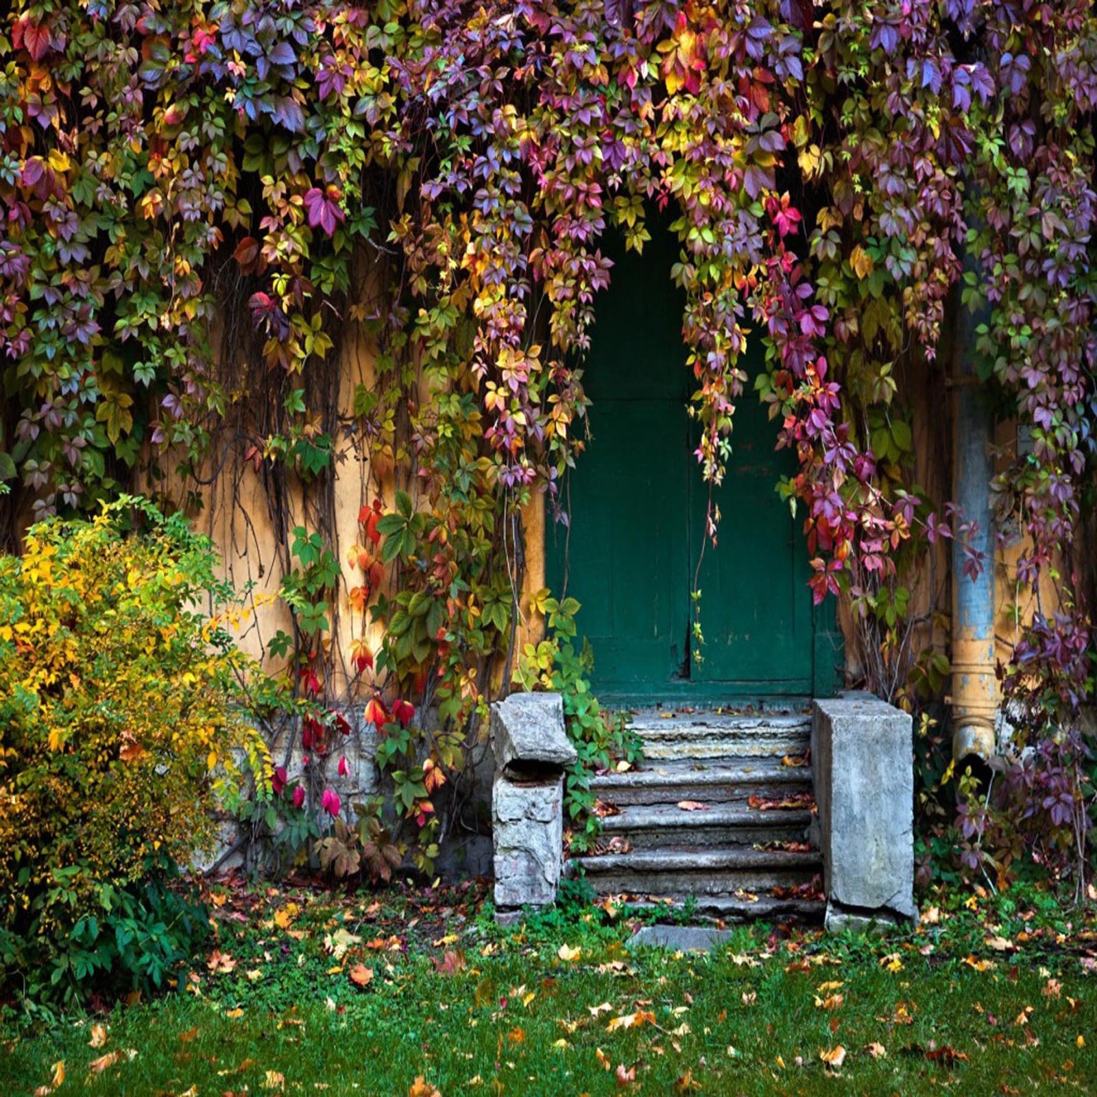
[[[189,506],[229,465],[257,480],[290,608],[269,654],[367,700],[425,845],[535,613],[522,512],[563,516],[584,448],[601,241],[642,250],[653,208],[701,472],[720,482],[757,389],[799,460],[780,489],[815,599],[895,643],[896,563],[962,536],[915,483],[909,393],[942,388],[971,307],[981,376],[1031,428],[998,485],[1021,579],[1061,576],[1088,646],[1089,3],[20,0],[0,57],[3,528],[134,480]],[[340,671],[348,440],[369,463]]]

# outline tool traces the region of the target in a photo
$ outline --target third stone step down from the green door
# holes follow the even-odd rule
[[[709,849],[730,842],[802,842],[812,813],[808,807],[764,810],[728,803],[689,811],[677,804],[632,804],[601,822],[606,838],[623,838],[636,850],[687,845]]]

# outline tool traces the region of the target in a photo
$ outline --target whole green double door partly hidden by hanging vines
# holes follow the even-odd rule
[[[598,305],[584,372],[591,440],[567,482],[569,521],[550,517],[550,586],[581,603],[579,632],[593,647],[593,686],[607,699],[810,694],[816,614],[807,555],[799,522],[774,491],[793,459],[774,452],[776,425],[745,394],[727,475],[713,496],[719,543],[702,555],[709,486],[687,414],[693,386],[683,299],[670,281],[677,245],[668,233],[653,236],[643,257],[613,256],[612,285]],[[700,661],[691,638],[694,573]]]

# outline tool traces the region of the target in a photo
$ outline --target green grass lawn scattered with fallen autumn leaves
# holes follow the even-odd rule
[[[1097,934],[1039,895],[711,954],[630,950],[612,909],[500,929],[473,887],[214,896],[182,988],[9,1011],[0,1094],[1097,1093]]]

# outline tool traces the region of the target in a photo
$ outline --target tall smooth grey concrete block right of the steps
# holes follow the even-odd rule
[[[812,767],[828,926],[917,919],[913,754],[911,716],[893,705],[869,693],[815,702]]]

